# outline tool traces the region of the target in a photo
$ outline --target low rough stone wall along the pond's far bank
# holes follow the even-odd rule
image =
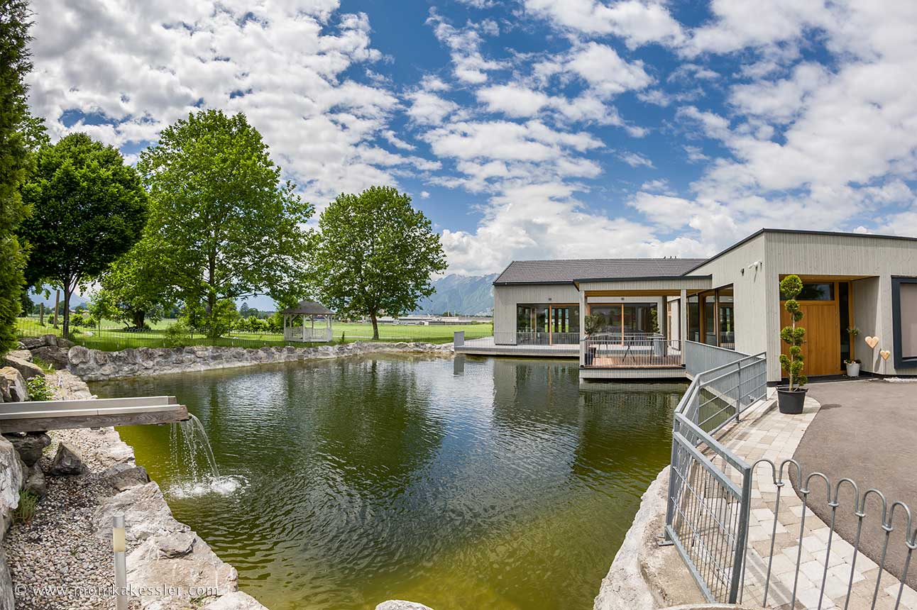
[[[102,352],[82,346],[70,348],[69,370],[86,381],[102,381],[168,373],[206,371],[215,368],[298,362],[371,353],[452,354],[452,344],[347,343],[318,347],[138,347]]]

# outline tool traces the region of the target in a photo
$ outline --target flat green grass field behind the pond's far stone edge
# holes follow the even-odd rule
[[[59,320],[60,322],[60,320]],[[116,321],[103,321],[101,328],[75,329],[71,337],[74,343],[85,345],[97,350],[117,351],[128,347],[165,347],[165,329],[174,324],[174,320],[160,320],[151,323],[149,331],[129,332]],[[45,317],[45,325],[39,324],[38,317],[18,318],[17,327],[22,336],[37,337],[42,334],[57,334],[61,329],[55,329],[50,324],[50,318]],[[449,343],[452,341],[453,332],[464,331],[467,339],[487,337],[493,333],[493,325],[484,324],[448,324],[444,326],[414,326],[408,324],[380,324],[379,341],[424,341],[428,343]],[[372,324],[360,322],[335,322],[333,327],[334,343],[353,343],[355,341],[370,341],[372,337]],[[284,342],[282,334],[270,332],[231,332],[219,339],[207,339],[203,335],[194,334],[186,342],[189,345],[223,345],[232,347],[262,347],[265,345],[302,345],[297,342]]]

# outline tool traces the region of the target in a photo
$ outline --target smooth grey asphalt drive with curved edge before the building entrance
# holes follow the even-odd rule
[[[911,528],[917,527],[917,383],[878,379],[818,383],[809,386],[809,396],[822,408],[793,455],[803,474],[821,472],[832,483],[848,477],[856,481],[861,494],[876,488],[888,498],[889,507],[896,500],[911,507],[915,521]],[[799,483],[794,480],[793,486],[798,493]],[[810,507],[830,522],[823,484],[813,480],[811,488]],[[836,529],[853,542],[857,519],[851,498],[849,487],[842,488]],[[867,503],[866,513],[860,549],[878,563],[885,541],[878,500]],[[885,568],[900,578],[906,558],[904,515],[896,513]],[[914,555],[907,583],[917,588],[917,552]]]

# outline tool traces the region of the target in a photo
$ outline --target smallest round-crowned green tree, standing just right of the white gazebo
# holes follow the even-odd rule
[[[338,315],[366,315],[379,338],[381,311],[398,316],[435,291],[446,255],[424,212],[392,187],[341,194],[318,221],[314,283]]]

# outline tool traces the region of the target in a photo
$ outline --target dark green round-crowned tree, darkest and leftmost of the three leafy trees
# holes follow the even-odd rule
[[[18,228],[32,248],[26,281],[47,281],[63,290],[68,336],[73,291],[137,243],[147,219],[147,194],[115,147],[71,134],[39,149],[22,197],[32,206]]]

